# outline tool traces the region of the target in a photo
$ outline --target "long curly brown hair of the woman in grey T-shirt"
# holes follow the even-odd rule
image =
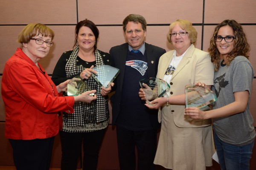
[[[233,29],[234,35],[236,36],[234,39],[234,49],[227,55],[227,66],[230,65],[230,62],[232,62],[236,56],[244,56],[248,59],[250,53],[250,45],[247,42],[242,26],[235,20],[224,20],[222,23],[215,27],[214,33],[210,40],[210,47],[208,48],[211,61],[215,65],[215,71],[218,71],[221,59],[220,52],[218,51],[216,42],[214,40],[214,36],[218,34],[219,29],[223,26],[230,26]]]

